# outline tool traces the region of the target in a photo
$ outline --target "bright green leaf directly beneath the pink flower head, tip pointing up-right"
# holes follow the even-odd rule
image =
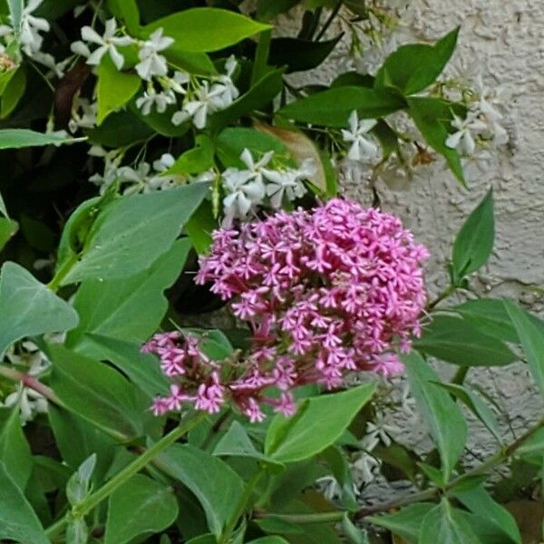
[[[308,459],[333,444],[374,394],[374,384],[306,399],[290,418],[270,423],[265,453],[275,461]]]

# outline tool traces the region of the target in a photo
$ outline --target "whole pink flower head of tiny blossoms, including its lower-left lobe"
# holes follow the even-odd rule
[[[252,350],[221,364],[193,337],[156,335],[144,349],[160,355],[172,385],[155,413],[183,403],[215,413],[229,399],[259,422],[264,404],[293,413],[298,385],[332,389],[352,372],[402,372],[393,349],[409,351],[420,334],[427,256],[399,219],[344,199],[216,231],[196,281],[211,282],[248,323]]]

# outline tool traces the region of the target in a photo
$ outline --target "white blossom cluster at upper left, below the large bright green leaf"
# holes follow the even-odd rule
[[[238,89],[232,81],[238,65],[234,56],[225,63],[225,73],[209,77],[191,76],[180,70],[170,72],[166,58],[160,53],[168,49],[174,39],[162,35],[162,28],[155,30],[147,40],[118,34],[114,18],[106,21],[102,35],[91,26],[83,26],[82,40],[71,45],[72,51],[94,66],[100,64],[107,54],[121,70],[125,58],[119,48],[137,47],[139,62],[134,69],[145,82],[145,89],[136,99],[136,105],[143,115],[149,115],[153,110],[163,113],[169,106],[180,103],[180,110],[172,115],[172,123],[179,125],[192,120],[195,127],[203,129],[210,113],[224,110],[238,98]]]

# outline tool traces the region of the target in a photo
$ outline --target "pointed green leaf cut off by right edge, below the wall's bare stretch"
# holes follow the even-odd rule
[[[505,300],[504,306],[520,337],[530,374],[544,396],[544,331],[534,324],[526,312],[510,300]]]

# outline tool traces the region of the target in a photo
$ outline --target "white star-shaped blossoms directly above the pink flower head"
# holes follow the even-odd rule
[[[233,219],[246,219],[255,209],[269,205],[280,209],[287,200],[292,202],[306,193],[303,181],[311,177],[316,166],[313,160],[304,160],[299,168],[271,168],[274,151],[268,151],[255,160],[251,151],[245,149],[240,160],[245,169],[228,168],[221,174],[224,225]]]

